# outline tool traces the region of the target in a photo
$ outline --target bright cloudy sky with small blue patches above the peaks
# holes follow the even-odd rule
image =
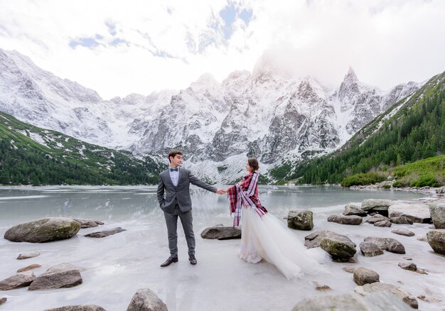
[[[0,0],[0,48],[103,99],[260,63],[389,89],[445,70],[444,0]],[[262,61],[259,61],[262,60]]]

